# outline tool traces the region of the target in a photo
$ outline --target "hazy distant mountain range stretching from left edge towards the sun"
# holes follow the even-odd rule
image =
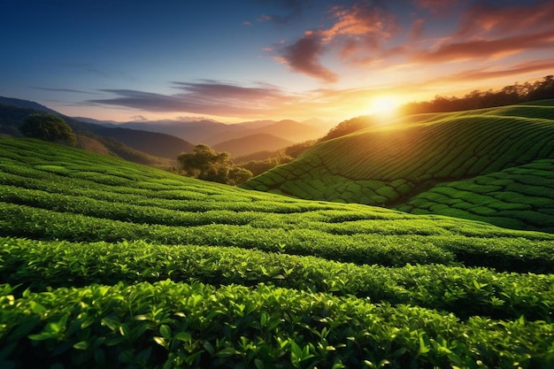
[[[17,132],[18,125],[33,112],[49,112],[62,116],[77,133],[99,135],[134,150],[169,159],[177,158],[181,152],[192,151],[198,143],[208,144],[216,150],[227,151],[232,157],[250,155],[258,151],[281,150],[296,142],[317,139],[332,127],[328,122],[320,119],[309,119],[303,122],[291,119],[255,120],[238,124],[225,124],[210,119],[165,119],[118,123],[112,120],[65,117],[58,111],[35,102],[0,97],[2,131],[7,133],[7,127],[12,127],[11,129],[15,129],[12,132]],[[81,143],[88,150],[114,154],[113,150],[105,147],[105,143],[95,142],[90,137],[82,139]]]

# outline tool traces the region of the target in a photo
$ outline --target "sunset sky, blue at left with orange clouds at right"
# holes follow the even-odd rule
[[[4,0],[0,96],[116,121],[324,119],[535,81],[554,2]]]

